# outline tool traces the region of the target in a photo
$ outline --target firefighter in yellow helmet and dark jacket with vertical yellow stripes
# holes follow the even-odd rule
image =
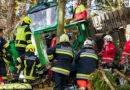
[[[40,64],[38,57],[34,54],[35,48],[32,44],[27,45],[26,52],[22,56],[18,57],[15,64],[15,76],[18,78],[20,69],[23,68],[23,82],[33,83],[36,80],[38,69],[38,74],[40,77],[43,75],[43,67]]]

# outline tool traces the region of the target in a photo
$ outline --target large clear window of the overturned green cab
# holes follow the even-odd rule
[[[30,26],[33,31],[54,26],[57,18],[57,6],[53,6],[38,12],[29,13],[28,16],[32,20]]]

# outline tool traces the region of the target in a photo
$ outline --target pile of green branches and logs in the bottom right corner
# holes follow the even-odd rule
[[[120,84],[119,79],[123,77],[126,83]],[[90,79],[91,90],[129,90],[129,79],[119,72],[117,69],[112,71],[104,71],[103,68],[97,69],[91,74]]]

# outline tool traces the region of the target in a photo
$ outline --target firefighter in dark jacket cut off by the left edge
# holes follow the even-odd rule
[[[0,29],[0,77],[4,81],[7,80],[7,70],[6,63],[9,63],[7,60],[7,52],[10,49],[9,43],[3,38],[3,29]]]

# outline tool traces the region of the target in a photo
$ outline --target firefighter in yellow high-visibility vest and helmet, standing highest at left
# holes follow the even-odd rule
[[[31,19],[27,16],[24,17],[23,23],[21,26],[19,26],[15,33],[15,47],[18,51],[19,56],[25,53],[25,48],[28,44],[31,44]]]

